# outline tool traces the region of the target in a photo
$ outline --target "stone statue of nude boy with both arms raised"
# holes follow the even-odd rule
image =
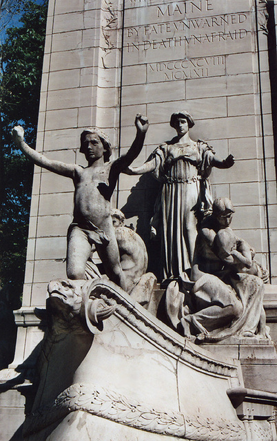
[[[74,213],[68,229],[66,258],[68,278],[85,278],[85,264],[94,244],[107,276],[123,289],[126,287],[110,215],[110,198],[119,174],[134,161],[143,147],[149,125],[147,118],[137,114],[135,125],[136,138],[132,146],[115,161],[110,161],[112,149],[107,136],[95,128],[84,130],[80,152],[85,154],[87,167],[50,160],[24,142],[21,126],[12,130],[14,143],[36,165],[72,178],[74,182]]]

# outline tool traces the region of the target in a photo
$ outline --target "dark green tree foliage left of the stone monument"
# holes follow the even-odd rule
[[[45,39],[47,0],[23,1],[20,24],[0,46],[0,283],[21,294],[28,237],[32,163],[14,150],[10,132],[23,125],[34,147]]]

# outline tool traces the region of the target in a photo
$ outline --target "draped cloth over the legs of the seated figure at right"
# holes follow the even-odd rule
[[[221,280],[220,276],[223,277]],[[207,334],[205,342],[217,342],[227,337],[245,337],[251,333],[267,338],[263,297],[263,280],[252,274],[204,274],[199,278],[189,296],[189,309]],[[234,307],[234,316],[225,317],[223,309]],[[239,314],[236,314],[239,311]],[[232,320],[232,321],[230,321]]]

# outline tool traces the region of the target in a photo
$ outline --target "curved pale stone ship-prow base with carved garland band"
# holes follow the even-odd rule
[[[94,335],[61,321],[48,333],[26,441],[97,440],[99,430],[104,440],[274,440],[277,395],[245,389],[237,360],[178,336],[113,283],[95,280],[89,296],[114,314]]]

